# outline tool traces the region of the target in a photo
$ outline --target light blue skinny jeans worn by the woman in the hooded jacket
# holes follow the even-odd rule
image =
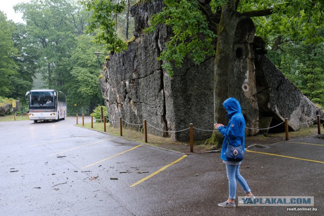
[[[226,164],[227,179],[228,179],[228,198],[235,199],[236,197],[236,180],[238,184],[242,187],[245,193],[251,192],[248,183],[239,174],[239,165],[229,165]]]

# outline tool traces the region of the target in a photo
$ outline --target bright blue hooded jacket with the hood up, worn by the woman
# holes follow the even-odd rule
[[[229,122],[227,126],[220,126],[218,130],[224,136],[221,159],[228,161],[225,156],[228,147],[227,141],[232,146],[243,145],[243,152],[245,152],[245,119],[241,112],[241,106],[235,98],[226,99],[223,106],[228,112]]]

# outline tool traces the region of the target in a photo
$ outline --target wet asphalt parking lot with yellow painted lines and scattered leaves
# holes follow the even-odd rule
[[[324,215],[322,136],[256,145],[240,166],[254,195],[313,196],[316,211],[221,208],[219,153],[184,155],[74,124],[0,122],[1,215]]]

